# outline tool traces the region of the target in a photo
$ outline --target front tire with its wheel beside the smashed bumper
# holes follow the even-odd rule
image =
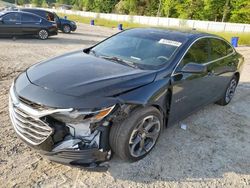
[[[133,162],[154,148],[163,130],[163,115],[154,107],[136,109],[130,114],[123,122],[112,125],[109,143],[121,159]]]

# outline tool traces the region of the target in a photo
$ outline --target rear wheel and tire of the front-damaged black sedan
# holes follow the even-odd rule
[[[238,78],[237,76],[234,75],[233,78],[230,80],[227,89],[223,94],[223,97],[220,100],[218,100],[216,104],[221,106],[229,104],[234,96],[237,85],[238,85]]]

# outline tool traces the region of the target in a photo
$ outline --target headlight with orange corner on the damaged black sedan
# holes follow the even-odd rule
[[[115,105],[92,112],[73,110],[70,112],[55,113],[51,116],[64,123],[98,122],[110,114],[114,107]]]

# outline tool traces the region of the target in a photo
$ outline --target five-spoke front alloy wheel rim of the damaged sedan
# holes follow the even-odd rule
[[[160,120],[154,115],[143,118],[132,131],[129,151],[133,157],[141,157],[155,145],[161,131]]]

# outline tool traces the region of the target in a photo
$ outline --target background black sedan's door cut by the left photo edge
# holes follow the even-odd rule
[[[2,35],[20,35],[22,34],[21,14],[18,12],[7,13],[2,16],[0,22],[0,34]]]

